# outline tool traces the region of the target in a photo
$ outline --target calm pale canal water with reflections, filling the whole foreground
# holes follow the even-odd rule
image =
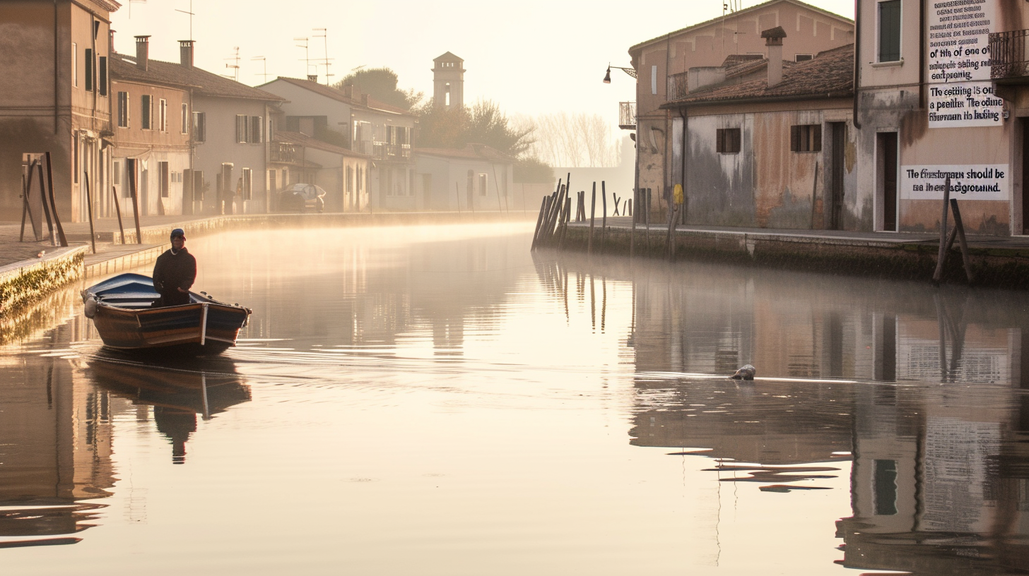
[[[1029,566],[1026,294],[530,236],[190,240],[253,309],[212,359],[112,353],[54,295],[0,347],[3,573]]]

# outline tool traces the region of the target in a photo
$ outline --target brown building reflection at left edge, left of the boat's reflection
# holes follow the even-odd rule
[[[67,343],[82,336],[82,320],[52,330],[48,338]],[[59,345],[60,346],[60,345]],[[14,362],[16,361],[16,365]],[[114,483],[111,415],[127,402],[112,399],[80,377],[59,356],[0,356],[4,399],[0,412],[0,545],[69,535],[83,524]],[[14,510],[4,506],[29,506]],[[33,506],[51,506],[32,508]],[[47,543],[74,539],[43,538]]]

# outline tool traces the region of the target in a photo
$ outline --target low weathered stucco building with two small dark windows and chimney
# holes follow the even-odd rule
[[[770,43],[788,42],[782,34],[766,31]],[[776,47],[769,61],[724,69],[730,78],[754,79],[698,87],[663,106],[673,114],[672,181],[685,183],[682,221],[858,228],[854,46],[792,65],[775,57]]]

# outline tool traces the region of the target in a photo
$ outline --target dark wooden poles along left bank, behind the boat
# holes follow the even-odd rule
[[[29,170],[27,175],[22,176],[22,232],[19,236],[19,242],[25,242],[25,220],[28,218],[29,223],[32,225],[32,235],[35,237],[36,242],[42,240],[40,236],[40,230],[36,228],[36,219],[32,214],[32,190],[33,190],[33,179],[35,175],[39,174],[39,194],[41,199],[41,204],[43,206],[42,217],[46,220],[46,229],[49,232],[50,246],[62,247],[68,246],[68,238],[65,236],[64,227],[61,225],[61,218],[58,216],[57,202],[54,197],[54,168],[50,164],[50,153],[43,152],[42,154],[33,154],[35,157],[29,164]],[[139,244],[143,243],[143,235],[140,231],[139,226],[139,192],[136,187],[136,166],[135,159],[129,159],[129,189],[132,192],[132,207],[133,215],[136,219],[136,242]],[[46,167],[46,178],[43,178],[43,166]],[[93,253],[97,253],[97,233],[94,229],[93,222],[93,193],[90,189],[90,173],[83,172],[83,183],[85,184],[85,202],[86,209],[90,213],[90,242],[93,246]],[[118,191],[113,185],[111,186],[111,194],[114,200],[114,213],[118,217],[118,229],[121,232],[121,244],[126,244],[126,232],[125,227],[121,225],[121,207],[118,204]],[[55,235],[55,228],[57,228],[57,235]]]

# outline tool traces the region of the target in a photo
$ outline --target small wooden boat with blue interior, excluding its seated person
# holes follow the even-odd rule
[[[121,350],[218,354],[236,346],[250,309],[189,292],[189,303],[153,308],[153,279],[122,274],[82,290],[85,316],[104,345]]]

